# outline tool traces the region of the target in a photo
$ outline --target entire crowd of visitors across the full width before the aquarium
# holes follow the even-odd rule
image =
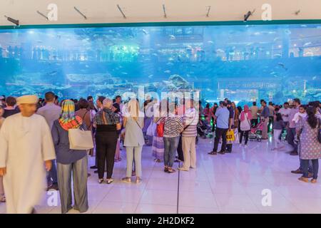
[[[148,98],[141,104],[136,98],[123,102],[120,95],[113,99],[98,96],[94,100],[88,96],[60,101],[52,92],[44,99],[36,95],[1,96],[0,202],[6,202],[8,213],[34,212],[43,191],[42,180],[46,179],[46,190],[60,193],[62,213],[68,212],[72,204],[79,212],[86,212],[87,180],[91,176],[88,156],[96,157],[96,164],[90,168],[95,169],[100,184],[113,183],[114,164],[122,160],[124,149],[126,170],[121,181],[142,182],[144,145],[151,146],[155,162],[163,162],[164,172],[174,173],[175,162],[182,162],[178,170],[188,172],[197,167],[200,125],[215,132],[209,155],[233,152],[233,145],[242,146],[243,140],[247,147],[251,131],[259,125],[262,140],[267,140],[269,133],[274,138],[271,150],[285,147],[283,135],[292,146],[290,155],[300,155],[300,167],[292,173],[302,174],[299,180],[303,182],[312,178],[315,183],[321,157],[320,107],[319,101],[302,105],[297,98],[283,105],[267,105],[260,100],[260,107],[255,102],[251,107],[240,107],[225,99],[203,108],[191,98]],[[71,149],[71,129],[89,131],[93,148]],[[230,140],[231,134],[237,143]]]

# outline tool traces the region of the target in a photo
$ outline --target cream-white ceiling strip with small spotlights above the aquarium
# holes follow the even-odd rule
[[[253,9],[255,13],[249,20],[261,20],[261,7],[267,2],[272,6],[272,20],[321,19],[320,0],[0,0],[0,26],[13,25],[4,15],[19,19],[21,25],[243,21],[243,15]],[[58,21],[46,21],[36,13],[39,10],[48,14],[47,6],[52,3],[58,6]],[[127,19],[118,11],[117,4]],[[88,19],[83,19],[74,6]],[[208,6],[210,15],[206,17]]]

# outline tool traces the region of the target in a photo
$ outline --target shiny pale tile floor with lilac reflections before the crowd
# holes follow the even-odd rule
[[[248,148],[234,145],[231,154],[208,155],[213,139],[200,140],[197,169],[174,174],[163,172],[162,163],[153,162],[151,147],[144,147],[140,184],[120,181],[126,169],[123,150],[111,185],[99,185],[90,171],[87,213],[321,213],[321,181],[297,180],[300,175],[290,170],[297,169],[298,157],[290,156],[290,147],[284,145],[271,150],[270,138],[249,142]],[[91,157],[90,165],[93,162]],[[55,197],[58,192],[45,195],[37,212],[60,213]],[[0,204],[0,213],[5,212],[5,204]]]

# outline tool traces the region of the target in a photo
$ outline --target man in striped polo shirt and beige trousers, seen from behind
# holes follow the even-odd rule
[[[178,170],[188,171],[196,168],[196,136],[198,134],[198,111],[193,108],[193,100],[185,100],[185,115],[183,116],[184,130],[182,147],[184,155],[183,166]]]

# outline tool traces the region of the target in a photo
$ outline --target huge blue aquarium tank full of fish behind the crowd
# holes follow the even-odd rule
[[[0,30],[0,95],[321,100],[321,24]]]

